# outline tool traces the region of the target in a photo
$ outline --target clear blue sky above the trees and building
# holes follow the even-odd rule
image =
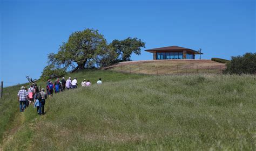
[[[107,42],[137,37],[146,49],[203,49],[203,59],[255,51],[255,1],[5,1],[0,0],[0,75],[6,85],[39,78],[47,55],[69,35],[99,30]],[[151,60],[152,54],[132,55]]]

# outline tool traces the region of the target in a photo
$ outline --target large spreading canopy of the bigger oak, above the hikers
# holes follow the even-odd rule
[[[106,48],[106,39],[97,30],[77,31],[70,35],[68,42],[59,46],[57,54],[48,55],[48,63],[57,68],[72,68],[72,71],[84,69],[86,64],[95,61],[97,55],[103,55]]]

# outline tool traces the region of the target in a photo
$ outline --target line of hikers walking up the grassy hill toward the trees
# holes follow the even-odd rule
[[[97,84],[102,84],[102,78],[99,78]],[[76,89],[77,86],[78,84],[76,77],[73,80],[71,79],[71,77],[69,77],[68,80],[65,80],[65,77],[62,77],[62,80],[59,80],[59,78],[57,78],[54,84],[51,80],[48,80],[48,82],[46,83],[46,92],[44,88],[39,91],[39,88],[35,83],[31,84],[29,88],[25,88],[24,86],[22,86],[21,90],[19,90],[18,92],[19,110],[23,112],[26,107],[33,103],[34,107],[37,107],[37,113],[39,115],[42,115],[45,113],[45,99],[47,99],[48,96],[52,97],[54,92],[55,94],[57,94],[65,90]],[[84,81],[82,81],[81,83],[81,87],[90,86],[90,80],[84,79]]]

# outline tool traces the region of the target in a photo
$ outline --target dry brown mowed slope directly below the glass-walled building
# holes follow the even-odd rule
[[[123,73],[167,75],[177,73],[219,74],[225,68],[224,63],[211,60],[147,60],[119,62],[104,69]]]

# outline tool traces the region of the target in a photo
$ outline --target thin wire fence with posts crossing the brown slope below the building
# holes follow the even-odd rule
[[[178,65],[178,66],[140,66],[139,64],[120,65],[110,68],[112,71],[130,73],[130,74],[151,74],[151,75],[168,75],[168,74],[222,74],[226,69],[225,65],[220,66],[195,66],[195,65]]]

